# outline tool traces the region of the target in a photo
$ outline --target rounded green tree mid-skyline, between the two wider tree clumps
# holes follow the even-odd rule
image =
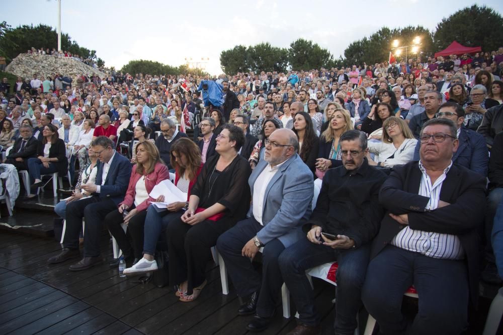
[[[327,49],[303,38],[290,44],[288,60],[293,70],[319,69],[333,63],[333,57]]]

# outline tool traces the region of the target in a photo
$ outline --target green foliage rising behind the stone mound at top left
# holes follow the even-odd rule
[[[20,53],[25,53],[32,47],[36,49],[57,48],[58,35],[56,30],[47,25],[28,26],[23,25],[15,29],[5,22],[0,25],[0,49],[5,52],[8,60],[16,58]],[[83,58],[90,58],[98,62],[98,66],[105,62],[96,56],[96,50],[89,50],[81,47],[77,42],[72,41],[68,34],[61,33],[61,50],[77,54]]]

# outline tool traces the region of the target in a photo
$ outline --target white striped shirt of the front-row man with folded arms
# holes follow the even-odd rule
[[[432,185],[430,176],[426,173],[421,161],[419,168],[423,174],[421,184],[419,187],[419,195],[430,198],[426,209],[437,209],[440,200],[440,191],[442,190],[442,183],[444,182],[447,172],[452,166],[451,164],[444,170],[444,173],[435,180]],[[433,232],[424,232],[420,230],[413,230],[410,226],[406,226],[398,233],[391,244],[395,247],[405,249],[412,252],[421,253],[428,257],[439,259],[459,260],[464,258],[464,250],[461,246],[461,241],[456,235],[440,234]]]

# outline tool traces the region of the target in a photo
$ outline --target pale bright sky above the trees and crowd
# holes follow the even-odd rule
[[[352,8],[348,8],[348,4]],[[107,67],[120,69],[137,59],[178,66],[186,63],[186,58],[189,61],[192,58],[192,66],[206,67],[209,73],[220,74],[220,52],[238,44],[269,42],[288,48],[302,37],[318,43],[338,58],[351,42],[383,26],[393,29],[422,25],[433,31],[444,17],[473,4],[465,0],[256,0],[249,3],[239,0],[62,0],[61,30],[80,46],[96,50]],[[483,4],[503,13],[500,0]],[[40,23],[57,28],[56,0],[4,1],[2,7],[4,16],[0,20],[13,28]]]

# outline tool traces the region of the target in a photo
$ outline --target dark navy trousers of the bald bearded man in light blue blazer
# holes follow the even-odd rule
[[[255,271],[249,258],[241,256],[244,245],[253,239],[262,228],[264,227],[254,217],[239,221],[236,226],[218,238],[217,249],[222,255],[237,294],[246,296],[260,290],[257,314],[269,317],[276,308],[283,285],[278,257],[285,250],[285,246],[278,239],[274,239],[264,246],[262,276]]]

